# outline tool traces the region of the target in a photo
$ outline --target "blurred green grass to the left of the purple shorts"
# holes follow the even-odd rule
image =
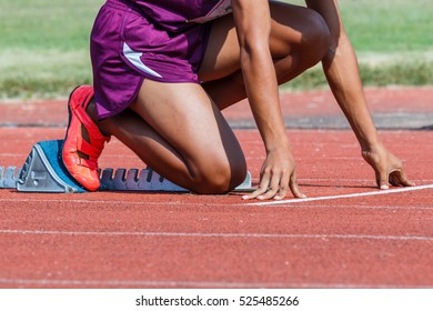
[[[89,34],[102,2],[0,0],[0,98],[66,97],[91,83]]]

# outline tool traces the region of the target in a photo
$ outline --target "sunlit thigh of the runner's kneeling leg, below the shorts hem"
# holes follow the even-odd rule
[[[243,159],[234,133],[200,84],[145,80],[131,109],[190,164]]]

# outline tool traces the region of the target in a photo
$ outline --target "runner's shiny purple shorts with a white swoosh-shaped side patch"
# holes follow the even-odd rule
[[[143,80],[199,83],[210,23],[168,32],[133,3],[108,0],[91,33],[90,53],[99,119],[127,109]]]

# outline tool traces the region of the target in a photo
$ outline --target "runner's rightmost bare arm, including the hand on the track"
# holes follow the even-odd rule
[[[338,0],[305,0],[306,6],[324,18],[331,32],[331,46],[322,60],[331,90],[351,124],[365,161],[376,174],[377,185],[413,185],[402,161],[382,144],[371,118],[363,91],[358,59],[344,30]]]

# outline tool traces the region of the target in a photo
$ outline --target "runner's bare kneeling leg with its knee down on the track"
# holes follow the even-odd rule
[[[103,131],[161,175],[198,193],[224,193],[244,180],[241,147],[199,84],[145,80],[130,108],[102,121]]]

